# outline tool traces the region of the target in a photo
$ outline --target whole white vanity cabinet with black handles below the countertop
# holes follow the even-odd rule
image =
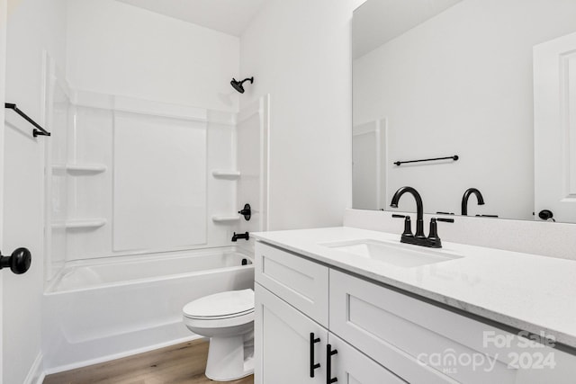
[[[425,299],[262,242],[255,265],[257,383],[576,382],[576,356]]]

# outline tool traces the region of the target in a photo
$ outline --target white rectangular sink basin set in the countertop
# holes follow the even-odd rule
[[[320,246],[328,246],[334,250],[405,268],[442,263],[464,257],[452,254],[446,250],[369,239],[324,243],[320,244]]]

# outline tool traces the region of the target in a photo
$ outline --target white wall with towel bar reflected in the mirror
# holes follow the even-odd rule
[[[383,205],[402,185],[427,212],[533,219],[532,48],[574,31],[576,3],[464,0],[354,63],[355,125],[388,120]],[[459,155],[457,162],[392,165]],[[410,199],[401,210],[413,209]]]

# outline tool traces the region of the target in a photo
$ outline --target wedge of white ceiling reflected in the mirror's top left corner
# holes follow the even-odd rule
[[[462,0],[368,0],[354,12],[352,54],[364,56]]]

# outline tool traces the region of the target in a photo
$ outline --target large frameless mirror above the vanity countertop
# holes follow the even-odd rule
[[[574,20],[566,0],[356,9],[354,208],[392,210],[410,185],[426,212],[460,215],[475,188],[485,204],[472,193],[468,216],[576,222]]]

